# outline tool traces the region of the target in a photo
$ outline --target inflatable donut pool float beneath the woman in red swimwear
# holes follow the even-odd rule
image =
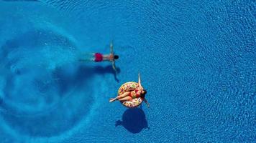
[[[137,82],[126,82],[124,84],[122,84],[122,86],[118,89],[117,94],[121,95],[124,94],[124,92],[129,92],[131,90],[135,90],[139,87],[139,84]],[[138,107],[140,106],[140,104],[142,104],[143,102],[143,98],[139,97],[139,98],[134,98],[131,99],[129,101],[120,101],[124,107],[127,108],[134,108],[134,107]]]

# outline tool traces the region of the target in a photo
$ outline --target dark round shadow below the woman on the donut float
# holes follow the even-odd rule
[[[139,133],[145,128],[150,129],[145,112],[141,108],[127,109],[122,116],[122,121],[116,121],[115,126],[120,125],[133,134]]]

